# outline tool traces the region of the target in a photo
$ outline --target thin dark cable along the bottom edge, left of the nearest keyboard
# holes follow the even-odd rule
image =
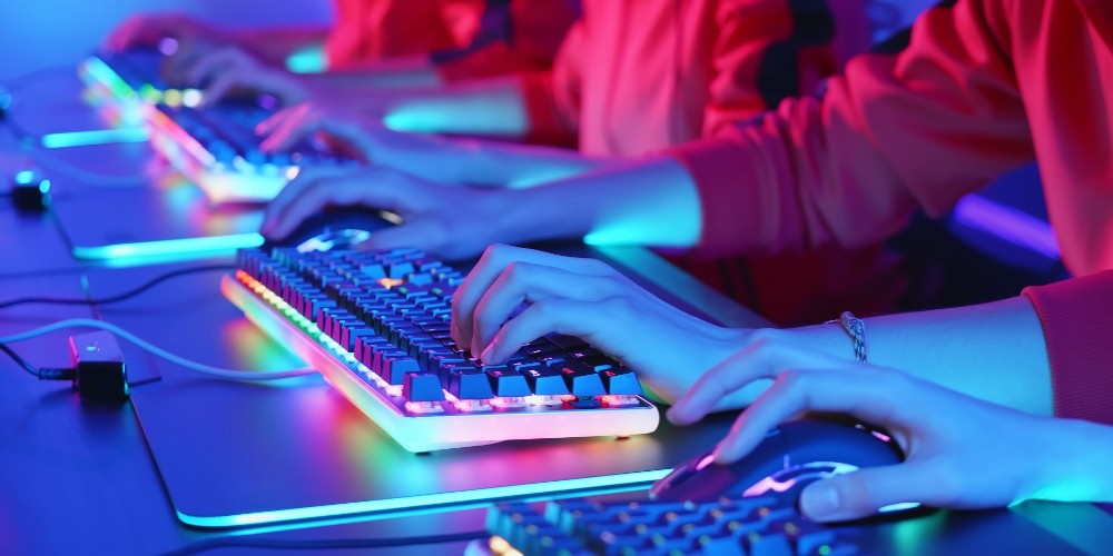
[[[413,537],[385,538],[336,538],[336,539],[279,539],[250,537],[221,537],[193,543],[167,555],[197,554],[206,550],[233,547],[269,548],[274,550],[324,550],[329,548],[391,548],[403,546],[462,543],[490,537],[485,530],[450,533],[444,535],[422,535]]]

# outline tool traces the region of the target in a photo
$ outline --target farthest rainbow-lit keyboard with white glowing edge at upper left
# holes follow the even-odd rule
[[[98,54],[81,64],[80,75],[93,96],[138,110],[155,149],[211,202],[268,201],[303,167],[361,165],[317,139],[263,152],[255,127],[274,113],[275,99],[201,108],[201,91],[169,87],[159,77],[164,58],[157,50]]]

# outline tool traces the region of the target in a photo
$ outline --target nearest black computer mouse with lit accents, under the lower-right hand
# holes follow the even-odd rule
[[[861,425],[817,419],[781,424],[749,455],[718,465],[710,451],[680,464],[653,484],[650,497],[664,502],[712,502],[786,494],[795,502],[805,485],[860,467],[899,464],[897,443]]]

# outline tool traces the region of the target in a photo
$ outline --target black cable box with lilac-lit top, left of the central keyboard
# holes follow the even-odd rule
[[[120,345],[111,332],[70,336],[73,388],[88,401],[122,401],[128,397],[127,370]]]

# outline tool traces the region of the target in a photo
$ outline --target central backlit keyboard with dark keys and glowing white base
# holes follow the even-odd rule
[[[416,249],[240,250],[221,291],[410,451],[631,436],[657,408],[629,369],[549,335],[480,365],[449,335],[463,274]]]

